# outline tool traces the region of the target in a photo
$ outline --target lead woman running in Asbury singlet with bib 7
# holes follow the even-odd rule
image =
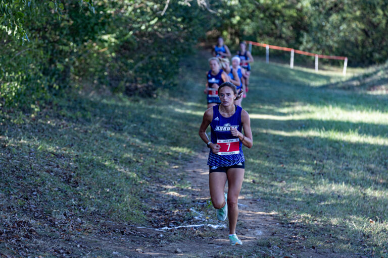
[[[221,84],[218,94],[221,104],[205,111],[200,127],[200,137],[210,148],[209,188],[212,204],[216,208],[217,219],[229,218],[229,241],[231,245],[243,244],[236,235],[238,218],[237,200],[243,184],[245,158],[242,144],[253,145],[251,121],[243,108],[234,105],[236,87],[229,82]],[[211,127],[211,141],[206,129]],[[244,134],[242,133],[244,130]],[[228,193],[224,193],[228,182]]]

